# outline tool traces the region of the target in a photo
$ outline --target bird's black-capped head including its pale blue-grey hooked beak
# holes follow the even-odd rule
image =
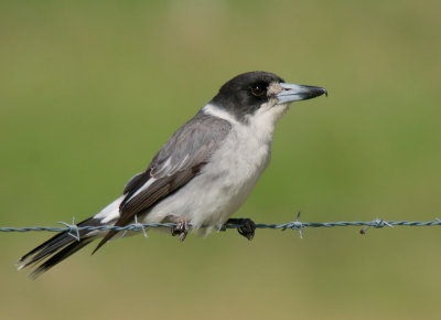
[[[297,100],[326,95],[325,88],[286,83],[268,72],[248,72],[224,84],[211,104],[247,121],[259,115],[272,115],[276,120]]]

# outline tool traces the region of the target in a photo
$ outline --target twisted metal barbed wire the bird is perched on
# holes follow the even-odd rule
[[[72,221],[72,224],[65,222],[58,222],[58,224],[63,224],[64,227],[53,227],[53,226],[30,226],[30,227],[0,227],[0,232],[67,232],[72,237],[79,241],[79,231],[117,231],[122,232],[122,236],[126,235],[127,232],[142,232],[146,237],[147,231],[149,227],[174,227],[175,223],[139,223],[137,217],[135,216],[135,222],[128,224],[126,226],[112,226],[112,225],[98,225],[98,226],[78,226],[75,224],[75,217]],[[375,218],[373,221],[338,221],[338,222],[301,222],[300,213],[297,215],[297,218],[292,222],[287,222],[282,224],[265,224],[257,223],[256,228],[271,228],[271,230],[294,230],[300,233],[300,237],[303,237],[303,230],[306,227],[343,227],[343,226],[364,226],[359,231],[361,234],[365,234],[369,227],[374,228],[383,228],[385,226],[394,227],[394,226],[440,226],[441,220],[435,218],[434,221],[386,221],[381,218]],[[190,224],[189,227],[192,227]],[[204,227],[204,226],[202,226]],[[228,228],[240,228],[241,224],[225,224],[220,231],[226,231]]]

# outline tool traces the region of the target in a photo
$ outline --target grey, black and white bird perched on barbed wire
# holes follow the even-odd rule
[[[169,232],[183,242],[190,226],[207,235],[224,224],[239,225],[249,241],[250,218],[230,218],[245,203],[268,167],[277,121],[293,102],[327,96],[323,87],[286,83],[273,73],[255,71],[226,82],[197,114],[180,127],[153,157],[146,171],[132,177],[122,195],[77,224],[78,237],[61,232],[26,253],[18,269],[34,266],[37,277],[93,241],[93,253],[117,238],[115,230],[133,221],[171,223]]]

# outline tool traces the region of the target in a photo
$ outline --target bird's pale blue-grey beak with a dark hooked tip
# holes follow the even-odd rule
[[[286,84],[281,83],[280,86],[282,90],[276,95],[278,99],[278,105],[288,104],[298,100],[306,100],[315,97],[320,97],[321,95],[326,95],[327,90],[322,87],[313,87],[313,86],[303,86],[295,84]]]

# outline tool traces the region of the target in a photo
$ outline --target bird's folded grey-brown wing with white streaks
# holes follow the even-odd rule
[[[183,125],[153,158],[148,169],[127,183],[115,225],[125,226],[190,180],[206,164],[230,130],[224,119],[198,113]],[[110,231],[95,252],[117,232]]]

